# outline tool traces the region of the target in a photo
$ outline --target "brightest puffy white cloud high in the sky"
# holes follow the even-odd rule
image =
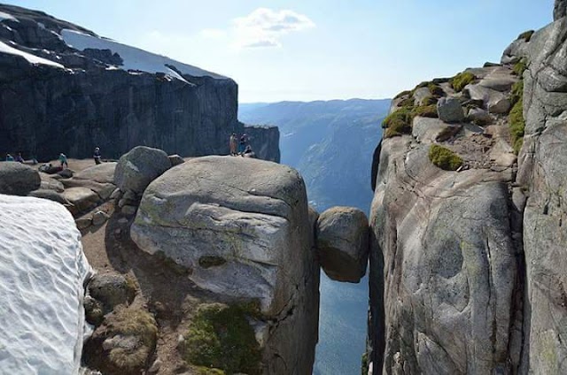
[[[280,47],[284,34],[315,27],[315,23],[304,14],[295,11],[274,11],[259,8],[245,17],[233,20],[235,43],[240,48]]]

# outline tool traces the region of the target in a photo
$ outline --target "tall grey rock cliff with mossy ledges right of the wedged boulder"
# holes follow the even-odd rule
[[[365,370],[567,371],[564,7],[501,65],[394,100],[372,166]]]

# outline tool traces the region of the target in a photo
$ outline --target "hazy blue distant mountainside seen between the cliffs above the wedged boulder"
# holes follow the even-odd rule
[[[318,210],[351,205],[368,212],[372,192],[363,165],[372,158],[389,107],[389,99],[241,103],[238,118],[279,127],[281,162],[301,172]]]

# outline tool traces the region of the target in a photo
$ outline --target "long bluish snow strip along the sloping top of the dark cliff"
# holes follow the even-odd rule
[[[227,77],[207,72],[206,70],[200,69],[196,66],[180,63],[179,61],[175,61],[169,57],[156,55],[146,50],[140,50],[126,44],[85,34],[80,31],[63,29],[61,30],[61,37],[69,47],[73,47],[75,50],[86,50],[89,48],[95,50],[111,50],[113,53],[118,53],[124,61],[123,65],[120,66],[124,70],[137,70],[148,73],[166,73],[178,80],[186,82],[181,74],[167,66],[172,65],[175,66],[175,69],[179,72],[193,77],[208,76],[221,80],[227,79]]]

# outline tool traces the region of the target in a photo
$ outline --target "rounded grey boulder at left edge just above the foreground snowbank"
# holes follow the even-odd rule
[[[0,163],[0,194],[27,195],[40,188],[42,180],[34,168],[17,162]]]

